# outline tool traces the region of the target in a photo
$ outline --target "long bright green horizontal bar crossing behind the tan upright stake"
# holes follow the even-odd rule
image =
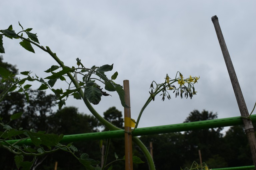
[[[252,122],[256,122],[256,115],[251,115]],[[190,131],[196,129],[208,129],[208,128],[219,128],[219,127],[229,127],[242,125],[243,121],[240,117],[224,118],[224,119],[214,119],[199,122],[189,122],[165,126],[147,127],[147,128],[136,128],[132,131],[133,136],[143,136],[151,134],[162,134],[162,133],[172,133],[181,131]],[[108,138],[121,138],[124,137],[124,130],[113,130],[113,131],[103,131],[94,133],[83,133],[83,134],[71,134],[65,135],[60,142],[75,142],[83,140],[99,140]],[[18,140],[8,140],[10,144],[17,142]],[[31,144],[30,139],[22,140],[19,142],[21,144]]]

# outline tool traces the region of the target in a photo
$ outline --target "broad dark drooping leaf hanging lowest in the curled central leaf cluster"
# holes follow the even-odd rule
[[[84,94],[89,102],[94,105],[99,104],[102,96],[101,90],[93,86],[85,86]]]

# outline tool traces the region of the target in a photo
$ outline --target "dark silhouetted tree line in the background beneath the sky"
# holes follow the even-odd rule
[[[15,66],[3,62],[0,57],[0,66],[13,73],[18,73]],[[1,75],[0,75],[1,80]],[[3,84],[0,85],[0,93]],[[15,128],[43,130],[47,133],[64,135],[98,132],[103,127],[97,119],[91,115],[79,113],[78,108],[64,107],[54,111],[56,106],[54,95],[46,95],[44,91],[29,90],[30,102],[27,104],[26,97],[19,92],[9,93],[0,103],[0,117],[2,121],[10,120],[14,113],[23,112],[22,118],[12,121],[9,125]],[[104,118],[119,128],[123,128],[122,112],[115,107],[104,112]],[[217,119],[217,113],[203,110],[192,111],[185,122]],[[141,136],[140,139],[148,146],[153,143],[153,158],[156,169],[180,169],[190,167],[193,161],[200,162],[199,150],[202,161],[210,168],[234,167],[253,165],[250,148],[243,126],[230,127],[224,135],[223,128],[200,129],[186,132],[167,133],[159,135]],[[0,131],[3,128],[0,127]],[[106,141],[103,141],[105,144]],[[101,150],[98,140],[80,141],[73,143],[78,152],[88,153],[90,158],[101,160]],[[134,155],[146,161],[142,152],[133,145]],[[0,169],[16,169],[14,155],[0,148]],[[108,162],[116,159],[115,154],[124,156],[124,139],[111,139]],[[33,169],[54,169],[58,162],[58,170],[84,169],[72,156],[65,151],[55,152],[37,158]],[[124,161],[113,164],[113,169],[124,169]],[[146,163],[135,164],[134,169],[146,170]]]

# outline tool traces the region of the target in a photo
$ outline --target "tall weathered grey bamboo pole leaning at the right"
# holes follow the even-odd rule
[[[215,15],[212,17],[212,22],[220,43],[220,48],[228,69],[228,74],[233,86],[233,90],[236,96],[236,101],[240,110],[240,114],[242,117],[249,117],[249,113],[244,101],[244,97],[236,76],[236,72],[234,69],[234,66],[232,64],[229,52],[228,52],[228,48],[226,46],[224,37],[222,35],[221,29],[220,29],[220,25],[219,25],[219,20],[218,17]],[[248,141],[249,141],[249,145],[250,145],[250,149],[251,149],[251,153],[252,153],[252,159],[253,159],[253,163],[254,166],[256,167],[256,138],[255,138],[255,134],[254,134],[254,128],[252,126],[252,121],[250,119],[243,119],[243,124],[244,124],[244,129],[245,129],[245,133],[247,135]],[[235,140],[235,139],[234,139]],[[237,139],[239,140],[239,139]]]

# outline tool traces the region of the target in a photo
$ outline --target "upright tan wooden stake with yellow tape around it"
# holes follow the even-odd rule
[[[129,87],[129,80],[124,80],[124,100],[126,105],[131,106],[130,104],[130,87]],[[131,108],[124,108],[124,117],[131,118]],[[133,163],[132,163],[132,135],[129,133],[131,132],[132,128],[124,126],[124,140],[125,140],[125,170],[133,170]]]

